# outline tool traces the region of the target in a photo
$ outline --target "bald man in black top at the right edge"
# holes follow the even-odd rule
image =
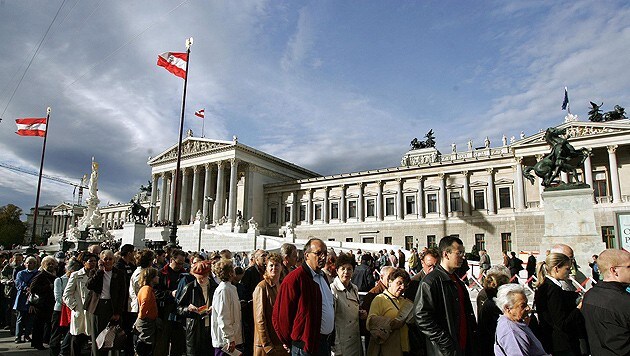
[[[597,263],[603,280],[582,301],[591,353],[630,355],[630,252],[604,250]]]

